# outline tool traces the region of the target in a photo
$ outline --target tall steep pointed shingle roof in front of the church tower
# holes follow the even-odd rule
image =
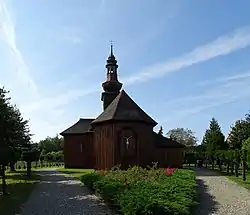
[[[97,124],[105,121],[144,122],[157,125],[129,96],[122,90],[111,104],[91,123]]]

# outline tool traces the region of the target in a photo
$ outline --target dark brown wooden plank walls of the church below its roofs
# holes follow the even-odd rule
[[[133,136],[132,147],[125,149],[123,136]],[[183,149],[156,148],[152,126],[143,123],[106,123],[94,132],[64,136],[65,167],[111,169],[116,165],[182,167]],[[81,152],[82,145],[82,152]]]

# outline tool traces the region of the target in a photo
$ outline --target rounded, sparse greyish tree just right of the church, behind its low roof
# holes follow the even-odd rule
[[[175,128],[168,131],[167,136],[185,146],[195,146],[197,138],[190,129]]]

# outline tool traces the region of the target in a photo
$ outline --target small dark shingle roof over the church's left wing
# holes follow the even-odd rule
[[[94,119],[80,118],[79,121],[77,121],[74,125],[61,132],[60,135],[64,136],[67,134],[83,134],[91,131],[91,122],[93,120]]]

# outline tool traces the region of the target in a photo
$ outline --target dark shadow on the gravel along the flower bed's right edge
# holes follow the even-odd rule
[[[198,205],[193,210],[193,215],[211,215],[218,210],[218,202],[215,201],[215,197],[209,193],[208,186],[204,181],[197,179],[197,198]]]

